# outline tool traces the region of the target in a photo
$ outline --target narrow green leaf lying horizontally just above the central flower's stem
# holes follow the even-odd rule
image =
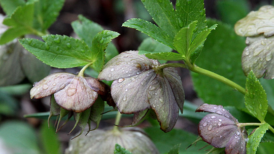
[[[159,60],[184,60],[181,54],[175,52],[162,52],[162,53],[148,53],[145,54],[148,58]]]

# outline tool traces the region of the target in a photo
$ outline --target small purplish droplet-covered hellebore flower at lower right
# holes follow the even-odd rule
[[[211,112],[199,122],[199,136],[214,147],[225,147],[225,153],[246,153],[247,131],[222,105],[202,104],[196,112]]]

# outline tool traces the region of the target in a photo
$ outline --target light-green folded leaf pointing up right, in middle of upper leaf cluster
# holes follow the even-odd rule
[[[187,27],[182,28],[174,37],[174,47],[182,56],[187,56],[189,53],[192,34],[196,27],[197,21],[191,22]]]

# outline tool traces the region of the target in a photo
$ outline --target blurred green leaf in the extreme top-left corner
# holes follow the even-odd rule
[[[10,16],[17,7],[24,6],[26,3],[24,0],[1,0],[0,4],[6,15]]]

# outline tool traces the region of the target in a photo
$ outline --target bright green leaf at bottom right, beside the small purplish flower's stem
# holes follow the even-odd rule
[[[248,136],[247,142],[247,153],[255,154],[257,147],[259,146],[261,139],[265,132],[268,130],[269,124],[263,124],[260,127],[256,128],[256,130]]]

